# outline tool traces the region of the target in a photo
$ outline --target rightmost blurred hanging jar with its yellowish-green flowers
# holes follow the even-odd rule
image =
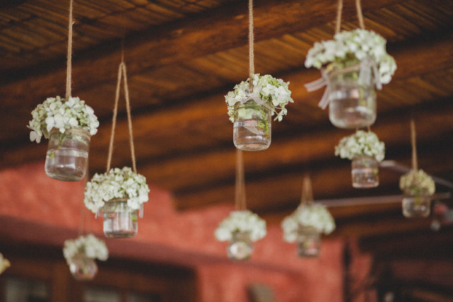
[[[404,192],[403,215],[407,218],[428,217],[431,211],[431,197],[435,193],[435,182],[423,170],[411,170],[399,179]]]

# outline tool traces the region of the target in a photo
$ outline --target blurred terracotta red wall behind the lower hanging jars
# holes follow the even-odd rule
[[[95,219],[82,206],[82,199],[82,181],[52,180],[45,175],[43,163],[0,171],[0,223],[8,221],[1,223],[0,236],[14,234],[30,243],[62,246],[69,233],[77,236],[81,213],[85,213],[90,231],[104,238],[102,218]],[[341,240],[324,239],[321,257],[301,259],[295,255],[295,246],[282,240],[280,226],[271,225],[268,235],[254,244],[252,260],[230,262],[225,255],[227,243],[215,240],[213,231],[232,209],[232,204],[225,204],[178,213],[171,194],[151,186],[138,235],[105,240],[111,257],[192,267],[198,276],[200,302],[249,301],[247,286],[257,283],[269,286],[279,302],[343,301]],[[21,225],[15,221],[66,233],[18,232],[11,229]]]

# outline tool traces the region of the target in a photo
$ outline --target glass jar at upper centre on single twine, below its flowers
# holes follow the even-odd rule
[[[234,112],[233,142],[237,149],[260,151],[271,145],[271,110],[254,100],[237,103]]]

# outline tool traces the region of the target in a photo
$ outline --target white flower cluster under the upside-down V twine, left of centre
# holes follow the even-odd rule
[[[146,178],[131,168],[112,168],[108,173],[96,173],[85,187],[85,205],[97,213],[111,199],[127,198],[131,210],[140,209],[148,202],[149,187]]]

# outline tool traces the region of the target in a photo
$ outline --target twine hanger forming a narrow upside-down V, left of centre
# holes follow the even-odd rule
[[[131,148],[132,170],[134,170],[134,173],[137,173],[135,149],[134,149],[134,134],[132,133],[132,118],[131,118],[131,105],[130,105],[130,100],[129,100],[129,86],[127,83],[127,71],[126,71],[126,64],[124,64],[124,53],[123,52],[122,52],[122,60],[118,67],[117,89],[115,92],[113,117],[112,117],[112,132],[110,133],[109,153],[108,153],[108,157],[107,157],[107,173],[109,172],[110,164],[112,163],[114,130],[117,125],[119,90],[121,87],[122,79],[123,79],[123,84],[124,84],[124,97],[126,98],[127,125],[129,128],[129,146]]]

